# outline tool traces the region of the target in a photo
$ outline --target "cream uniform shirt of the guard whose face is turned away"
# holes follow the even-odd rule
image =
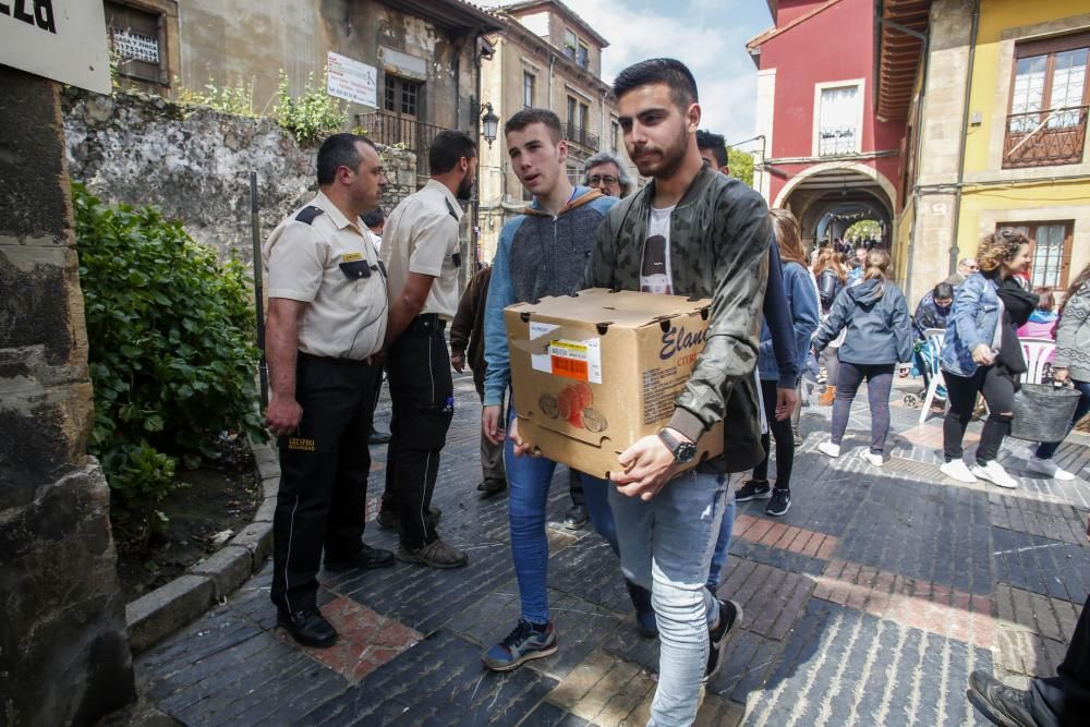
[[[421,314],[453,320],[458,312],[458,228],[462,208],[434,179],[393,208],[383,230],[383,260],[390,275],[390,303],[410,272],[435,278]]]

